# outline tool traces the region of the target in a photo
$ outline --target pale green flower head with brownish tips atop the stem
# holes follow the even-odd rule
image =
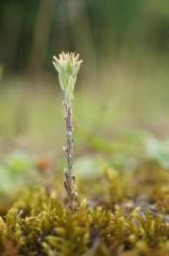
[[[53,64],[59,73],[61,90],[65,92],[69,102],[74,96],[76,77],[81,63],[82,60],[79,60],[79,54],[73,52],[61,52],[59,58],[53,57]]]

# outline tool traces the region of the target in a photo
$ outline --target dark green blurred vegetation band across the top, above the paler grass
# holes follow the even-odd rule
[[[76,49],[95,68],[124,50],[165,55],[168,27],[167,0],[2,0],[0,62],[13,72],[37,72],[50,69],[62,49]]]

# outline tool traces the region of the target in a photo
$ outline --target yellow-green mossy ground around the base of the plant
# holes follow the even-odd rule
[[[55,186],[25,189],[1,206],[0,255],[167,256],[169,173],[144,161],[130,173],[105,168],[77,181],[76,213]]]

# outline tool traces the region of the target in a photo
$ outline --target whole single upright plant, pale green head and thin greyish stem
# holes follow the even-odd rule
[[[79,206],[78,192],[76,188],[76,178],[73,174],[74,163],[74,126],[73,126],[73,108],[74,108],[74,89],[76,77],[82,60],[79,59],[79,54],[65,53],[59,54],[59,58],[53,57],[53,64],[59,73],[59,84],[62,91],[62,104],[64,108],[64,120],[66,126],[66,146],[63,147],[63,152],[67,160],[67,168],[64,170],[66,189],[69,209],[76,211]]]

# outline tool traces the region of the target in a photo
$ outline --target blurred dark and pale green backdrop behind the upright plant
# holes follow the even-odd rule
[[[90,134],[169,130],[167,0],[1,0],[0,149],[59,152],[64,141],[53,55],[79,52],[76,152]],[[58,150],[59,149],[59,150]]]

